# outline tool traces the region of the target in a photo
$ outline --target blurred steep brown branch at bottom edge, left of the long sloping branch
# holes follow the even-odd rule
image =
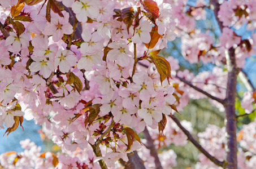
[[[147,140],[146,148],[150,150],[150,155],[155,158],[155,168],[156,169],[163,169],[162,164],[161,164],[161,162],[159,160],[159,157],[158,157],[158,152],[155,149],[154,142],[153,142],[153,140],[152,140],[152,138],[149,134],[149,131],[147,130],[147,127],[145,127],[145,130],[143,132],[144,132],[144,136]]]

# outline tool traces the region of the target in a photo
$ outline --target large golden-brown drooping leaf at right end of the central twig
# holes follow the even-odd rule
[[[162,82],[164,81],[164,79],[167,78],[168,83],[169,82],[169,78],[171,78],[171,66],[170,63],[168,63],[168,61],[166,59],[164,59],[161,56],[158,55],[151,55],[149,56],[151,61],[155,64],[155,66],[157,67],[157,71],[160,74],[160,82],[162,84]]]

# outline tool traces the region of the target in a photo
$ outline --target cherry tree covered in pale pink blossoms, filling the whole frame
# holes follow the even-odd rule
[[[255,3],[0,0],[0,127],[8,136],[33,119],[61,148],[41,152],[24,140],[24,152],[0,155],[1,166],[171,168],[177,155],[168,145],[190,141],[201,152],[197,168],[253,168],[256,122],[237,128],[237,119],[256,102],[243,70],[256,52]],[[198,28],[207,14],[217,33]],[[244,25],[246,38],[237,31]],[[214,68],[193,74],[163,57],[175,38],[189,63]],[[211,124],[194,139],[175,112],[205,97],[225,113],[225,127]]]

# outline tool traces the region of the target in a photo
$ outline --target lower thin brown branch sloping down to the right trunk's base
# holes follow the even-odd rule
[[[188,130],[186,130],[185,127],[183,127],[180,123],[180,121],[173,115],[169,115],[169,117],[172,118],[172,120],[177,124],[177,126],[184,132],[184,134],[188,137],[188,140],[194,144],[194,146],[196,146],[196,148],[203,153],[207,158],[210,159],[210,161],[212,161],[214,164],[216,164],[217,166],[223,167],[225,168],[225,164],[226,162],[221,162],[218,159],[216,159],[215,157],[213,157],[211,154],[209,154],[194,138],[193,136],[190,134],[190,132]]]

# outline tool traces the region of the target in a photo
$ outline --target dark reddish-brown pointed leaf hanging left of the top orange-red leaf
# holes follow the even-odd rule
[[[121,18],[124,21],[124,24],[127,26],[127,32],[129,34],[129,28],[132,26],[134,19],[134,10],[133,7],[124,8],[121,12]]]

